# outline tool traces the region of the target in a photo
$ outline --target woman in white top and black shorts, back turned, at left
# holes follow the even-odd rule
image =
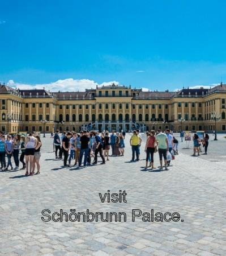
[[[33,159],[35,155],[35,148],[37,146],[37,139],[33,137],[32,133],[29,133],[25,140],[25,162],[26,162],[26,172],[25,175],[33,175]],[[30,173],[28,173],[28,167]]]

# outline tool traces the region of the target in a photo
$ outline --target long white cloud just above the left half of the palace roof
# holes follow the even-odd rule
[[[89,79],[61,79],[57,80],[56,82],[50,82],[49,84],[23,84],[21,82],[14,82],[14,80],[9,80],[7,85],[12,88],[19,88],[19,89],[43,89],[50,90],[51,92],[84,92],[86,89],[95,89],[96,85],[98,86],[107,86],[110,84],[118,85],[119,82],[117,81],[109,81],[103,82],[102,84],[97,84],[97,82]]]

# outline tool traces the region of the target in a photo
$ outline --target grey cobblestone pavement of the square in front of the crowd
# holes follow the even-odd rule
[[[226,255],[225,162],[182,152],[169,171],[144,171],[144,144],[141,160],[129,163],[129,137],[124,157],[80,169],[61,168],[46,137],[40,175],[0,172],[0,254]],[[101,203],[107,189],[126,190],[127,203]],[[42,222],[43,209],[126,212],[127,222]],[[132,222],[132,209],[176,211],[184,222]]]

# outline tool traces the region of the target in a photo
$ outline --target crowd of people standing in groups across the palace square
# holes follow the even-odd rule
[[[109,156],[123,156],[125,153],[125,136],[126,133],[115,133],[108,131],[99,133],[98,131],[64,131],[62,135],[59,130],[53,135],[53,151],[56,159],[63,160],[63,167],[86,167],[97,164],[97,158],[100,156],[101,164],[105,164],[110,160]],[[180,134],[181,141],[182,135]],[[207,154],[208,134],[204,134],[203,139],[198,134],[193,136],[193,156],[198,155],[201,151],[201,145],[204,147],[204,154]],[[140,145],[142,144],[142,136],[139,130],[134,130],[130,138],[130,146],[132,152],[131,162],[140,160]],[[26,170],[25,175],[40,174],[40,149],[42,143],[39,135],[29,133],[27,137],[16,134],[14,137],[10,134],[4,135],[0,131],[0,162],[1,170],[19,170],[20,163],[22,168]],[[111,150],[111,155],[109,151]],[[146,132],[146,143],[144,147],[146,152],[146,166],[153,170],[154,154],[158,152],[160,160],[160,170],[165,168],[168,170],[170,161],[178,155],[178,140],[173,136],[169,129],[164,132],[161,129],[157,131]],[[19,153],[20,157],[19,157]],[[7,158],[7,164],[6,164]],[[15,167],[12,166],[11,158],[14,159]],[[93,160],[91,160],[93,158]],[[37,171],[35,172],[35,169]]]

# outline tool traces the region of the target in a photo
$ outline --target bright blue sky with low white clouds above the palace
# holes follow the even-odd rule
[[[224,0],[2,0],[0,8],[0,81],[11,86],[226,82]]]

